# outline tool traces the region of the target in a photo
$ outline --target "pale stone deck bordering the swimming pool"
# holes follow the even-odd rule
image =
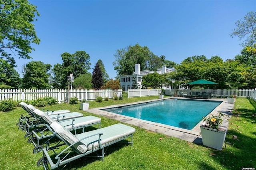
[[[188,98],[166,97],[164,99],[154,99],[154,100],[149,100],[149,101],[139,101],[139,102],[134,102],[134,103],[122,104],[122,105],[111,105],[111,106],[107,106],[107,107],[99,107],[99,108],[89,109],[89,110],[87,110],[87,112],[93,113],[96,115],[100,115],[100,116],[104,116],[104,117],[108,117],[110,119],[115,119],[117,121],[127,123],[130,125],[134,125],[137,127],[141,127],[141,128],[153,131],[153,132],[162,133],[167,136],[173,136],[176,138],[180,138],[182,140],[194,142],[196,144],[202,144],[200,125],[202,124],[203,120],[200,121],[194,128],[192,128],[192,130],[187,130],[187,129],[183,129],[183,128],[164,125],[161,123],[145,121],[142,119],[137,119],[137,118],[128,117],[128,116],[119,115],[116,113],[111,113],[108,111],[101,110],[101,109],[110,109],[113,107],[124,107],[124,106],[129,106],[129,105],[136,105],[136,104],[140,104],[140,103],[149,103],[149,102],[168,100],[168,99],[188,99]],[[189,100],[195,100],[195,99],[189,99]],[[196,100],[198,100],[198,99],[196,99]],[[202,100],[205,101],[205,99],[202,99]],[[231,112],[234,108],[234,104],[227,103],[227,99],[207,99],[207,101],[222,101],[222,103],[220,105],[218,105],[210,114],[218,115],[218,112],[220,111],[224,115],[231,116]],[[223,126],[228,127],[229,121],[227,119],[224,119],[224,121],[222,122]]]

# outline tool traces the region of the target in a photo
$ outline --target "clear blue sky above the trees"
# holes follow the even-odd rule
[[[38,7],[40,17],[34,24],[41,42],[32,45],[33,59],[16,58],[18,70],[32,60],[53,66],[62,63],[64,52],[86,51],[91,67],[101,59],[110,78],[116,77],[112,64],[116,50],[136,43],[176,63],[202,54],[234,59],[242,42],[230,37],[231,30],[237,20],[256,9],[255,0],[29,2]]]

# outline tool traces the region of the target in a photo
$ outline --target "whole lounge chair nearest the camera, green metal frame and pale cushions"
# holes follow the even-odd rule
[[[76,134],[76,136],[58,122],[53,122],[48,128],[67,147],[58,148],[58,150],[55,150],[56,147],[43,148],[43,157],[38,160],[37,165],[44,166],[45,170],[48,169],[48,164],[50,164],[51,169],[55,169],[60,166],[66,166],[69,162],[81,157],[93,156],[89,155],[93,152],[96,153],[95,157],[100,157],[103,161],[105,154],[104,148],[128,137],[132,138],[131,142],[128,143],[133,145],[133,134],[135,133],[135,128],[120,123]],[[49,154],[51,150],[55,156]],[[101,153],[98,153],[97,151],[100,150]]]

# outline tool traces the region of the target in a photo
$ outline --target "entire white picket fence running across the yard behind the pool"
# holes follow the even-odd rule
[[[189,94],[189,92],[196,92],[201,90],[194,89],[183,89],[183,93]],[[229,95],[237,95],[238,97],[251,97],[256,101],[256,90],[255,89],[202,89],[208,93],[218,95],[221,97],[228,97]],[[129,89],[128,98],[130,97],[145,97],[145,96],[156,96],[161,93],[161,89]],[[174,95],[175,89],[165,90],[165,95]],[[0,101],[6,99],[12,99],[13,101],[30,101],[43,97],[53,97],[58,103],[64,103],[67,101],[67,90],[66,89],[0,89]],[[96,89],[84,89],[70,90],[70,98],[77,97],[78,101],[86,99],[87,101],[94,101],[98,96],[112,99],[114,95],[118,97],[122,94],[122,89],[118,90],[96,90]]]

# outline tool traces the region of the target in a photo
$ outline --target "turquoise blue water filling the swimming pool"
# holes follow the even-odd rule
[[[191,130],[221,101],[169,99],[104,111]]]

